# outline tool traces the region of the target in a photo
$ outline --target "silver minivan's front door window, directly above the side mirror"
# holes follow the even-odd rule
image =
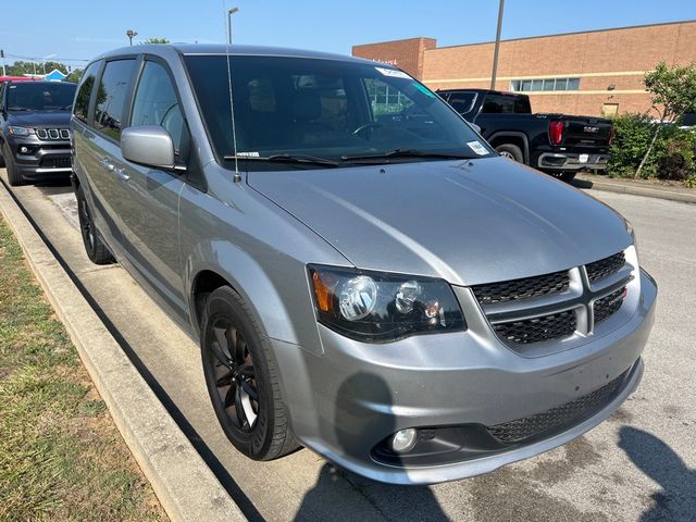
[[[178,151],[184,132],[184,116],[166,70],[157,62],[146,62],[133,101],[130,125],[164,127]]]

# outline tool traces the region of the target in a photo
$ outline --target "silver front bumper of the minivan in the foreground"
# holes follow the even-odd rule
[[[622,326],[543,357],[513,352],[486,332],[489,326],[483,318],[481,324],[470,322],[467,332],[385,345],[353,341],[319,325],[322,355],[273,341],[293,431],[328,460],[394,484],[464,478],[552,449],[599,424],[638,385],[641,352],[657,297],[656,285],[643,271],[639,288],[637,308]],[[461,300],[468,289],[457,291]],[[494,450],[467,442],[471,433],[467,426],[533,417],[593,394],[620,376],[607,401],[560,431]],[[426,455],[413,464],[406,456],[387,461],[375,451],[399,430],[452,426],[462,427],[463,448],[452,448],[447,458],[433,455],[428,461]]]

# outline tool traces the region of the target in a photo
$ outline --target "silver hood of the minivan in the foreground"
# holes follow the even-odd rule
[[[249,172],[248,183],[360,269],[455,285],[567,270],[631,243],[609,207],[504,158]]]

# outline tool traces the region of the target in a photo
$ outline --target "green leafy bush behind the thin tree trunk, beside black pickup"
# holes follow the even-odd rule
[[[655,146],[641,177],[686,179],[695,173],[696,133],[674,124],[655,123],[647,114],[620,114],[612,117],[614,138],[608,173],[612,177],[632,177],[658,129]]]

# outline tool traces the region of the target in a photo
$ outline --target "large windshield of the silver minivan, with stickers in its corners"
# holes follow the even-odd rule
[[[235,159],[225,55],[186,65],[217,158]],[[253,170],[481,158],[492,149],[437,95],[387,65],[232,55],[238,160]],[[259,160],[259,161],[251,161]]]

